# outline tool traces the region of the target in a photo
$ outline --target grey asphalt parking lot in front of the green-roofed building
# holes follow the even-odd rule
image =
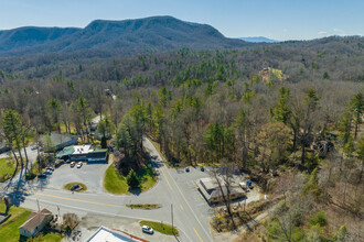
[[[87,186],[87,191],[93,194],[104,194],[103,178],[108,164],[87,164],[84,163],[81,168],[76,165],[63,164],[56,168],[47,179],[46,188],[63,189],[68,183],[83,183]]]

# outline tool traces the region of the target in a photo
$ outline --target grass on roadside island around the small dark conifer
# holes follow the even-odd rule
[[[137,176],[141,182],[141,191],[148,190],[154,186],[157,182],[153,170],[147,167],[138,172]],[[110,194],[130,194],[127,178],[115,169],[114,164],[111,164],[105,173],[104,187]]]

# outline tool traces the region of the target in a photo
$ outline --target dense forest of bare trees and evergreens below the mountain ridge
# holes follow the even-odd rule
[[[364,38],[0,62],[2,140],[99,130],[131,160],[142,136],[170,163],[235,164],[281,196],[269,241],[363,240]],[[276,177],[278,175],[278,178]],[[285,198],[285,199],[283,199]],[[304,198],[304,199],[303,199]]]

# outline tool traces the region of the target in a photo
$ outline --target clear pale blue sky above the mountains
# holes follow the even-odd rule
[[[0,0],[0,30],[151,15],[206,23],[227,37],[364,35],[364,0]]]

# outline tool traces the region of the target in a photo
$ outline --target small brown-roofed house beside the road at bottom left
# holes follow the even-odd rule
[[[20,235],[31,238],[38,234],[44,229],[44,227],[51,222],[53,215],[47,209],[41,211],[33,211],[28,220],[19,227]]]

